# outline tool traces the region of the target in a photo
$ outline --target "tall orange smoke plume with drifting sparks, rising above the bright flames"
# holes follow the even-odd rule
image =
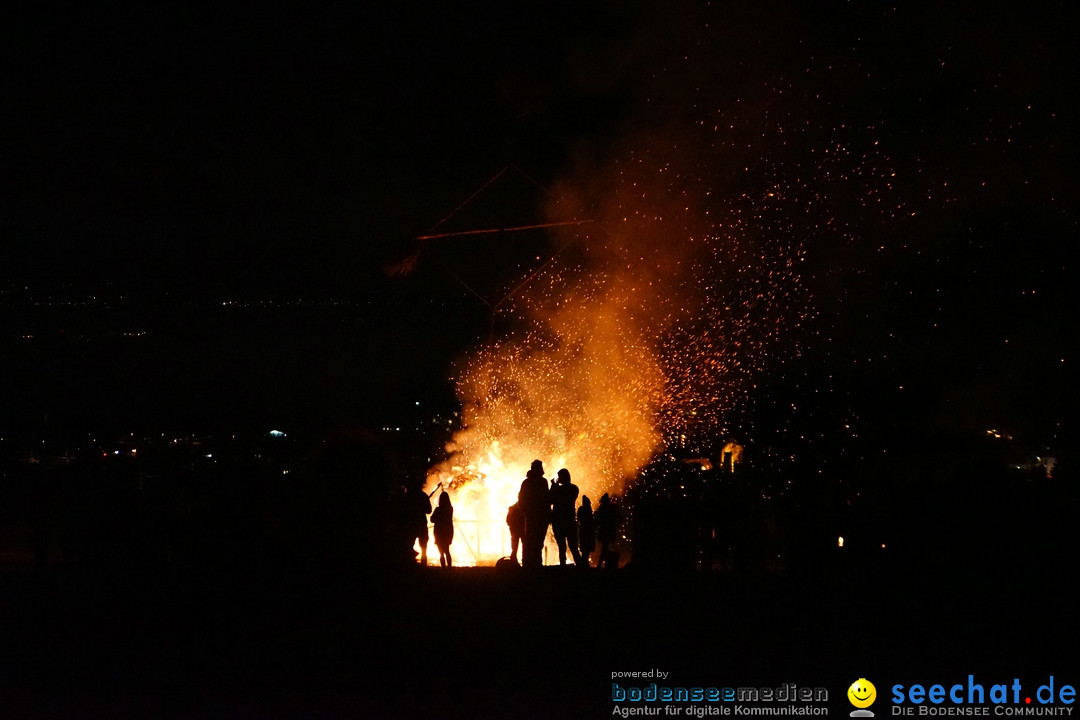
[[[643,83],[643,130],[588,148],[552,189],[550,221],[592,222],[555,234],[503,307],[516,329],[459,368],[464,426],[442,472],[495,446],[518,477],[539,458],[588,494],[618,491],[664,449],[752,432],[756,385],[800,352],[808,248],[850,242],[852,210],[888,190],[875,128],[825,118],[827,97],[782,67],[728,58],[729,81],[676,59]]]

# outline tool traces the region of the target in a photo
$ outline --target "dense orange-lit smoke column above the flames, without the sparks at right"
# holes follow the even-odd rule
[[[444,470],[497,446],[522,475],[540,458],[570,468],[589,494],[619,491],[704,418],[690,396],[723,373],[715,357],[698,368],[681,353],[702,355],[710,332],[723,340],[702,317],[715,262],[708,214],[677,162],[650,177],[642,159],[652,153],[637,147],[627,163],[579,167],[554,188],[552,221],[593,222],[562,231],[555,260],[508,303],[521,329],[460,368],[463,429]],[[730,399],[719,388],[730,380],[713,383],[710,405]]]

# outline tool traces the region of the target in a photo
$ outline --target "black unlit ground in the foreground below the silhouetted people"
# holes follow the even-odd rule
[[[882,698],[969,674],[1075,681],[1067,566],[8,570],[0,716],[610,717],[611,673],[653,667],[673,685],[825,687],[838,716],[860,677]]]

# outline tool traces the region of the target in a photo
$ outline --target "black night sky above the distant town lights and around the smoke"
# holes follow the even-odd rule
[[[829,185],[836,232],[794,203],[762,210],[793,218],[788,240],[812,230],[810,321],[755,385],[762,436],[822,392],[904,427],[1075,433],[1069,3],[33,6],[5,25],[8,343],[50,297],[136,315],[374,298],[387,321],[360,331],[383,350],[338,362],[393,389],[404,363],[434,386],[487,324],[440,263],[474,284],[527,270],[499,239],[423,246],[419,271],[388,275],[414,237],[508,165],[527,195],[670,151],[684,186],[748,213],[770,182]],[[528,202],[458,227],[534,222],[542,191]]]

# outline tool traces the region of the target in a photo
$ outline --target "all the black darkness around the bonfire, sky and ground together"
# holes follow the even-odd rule
[[[879,695],[882,677],[1076,680],[1077,19],[1065,2],[5,10],[0,699],[607,715],[610,671],[667,665],[827,682],[846,712],[860,676]],[[608,167],[715,106],[747,147],[762,110],[807,128],[792,154],[738,160],[879,141],[903,208],[868,213],[855,181],[834,201],[852,230],[807,245],[798,353],[732,421],[730,568],[514,584],[373,562],[370,499],[441,459],[484,300],[550,242],[416,236],[542,220],[541,188],[583,158]],[[440,225],[508,164],[504,195]],[[697,506],[654,472],[634,549],[677,565]],[[497,669],[462,685],[461,667]]]

